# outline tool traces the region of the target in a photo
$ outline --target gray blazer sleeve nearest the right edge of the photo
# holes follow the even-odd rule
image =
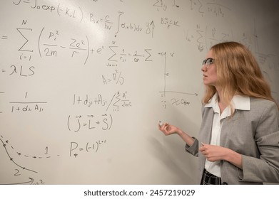
[[[243,169],[238,169],[241,181],[279,183],[279,114],[275,103],[261,114],[255,129],[255,143],[260,158],[243,155]],[[249,146],[247,146],[249,147]]]

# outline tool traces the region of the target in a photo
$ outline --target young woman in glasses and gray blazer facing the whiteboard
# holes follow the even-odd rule
[[[181,136],[198,156],[201,184],[279,183],[279,107],[250,50],[236,42],[213,45],[201,70],[199,141],[168,123],[158,128]]]

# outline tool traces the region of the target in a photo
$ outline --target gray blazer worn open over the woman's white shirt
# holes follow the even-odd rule
[[[199,140],[210,143],[213,108],[203,107]],[[198,139],[188,153],[198,156],[198,182],[201,182],[206,158],[198,151]],[[243,169],[220,161],[223,184],[279,183],[279,113],[274,102],[250,97],[250,111],[235,109],[227,117],[220,133],[220,146],[242,154]]]

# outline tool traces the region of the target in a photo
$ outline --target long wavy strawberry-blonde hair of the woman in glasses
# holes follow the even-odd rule
[[[264,79],[258,62],[245,45],[237,42],[224,42],[213,45],[210,49],[217,70],[217,84],[222,85],[220,95],[223,96],[227,106],[230,106],[233,95],[246,95],[275,102],[271,95],[270,85]],[[214,86],[206,85],[203,104],[208,103],[215,92]],[[279,109],[278,104],[277,107]],[[232,106],[230,109],[233,113]]]

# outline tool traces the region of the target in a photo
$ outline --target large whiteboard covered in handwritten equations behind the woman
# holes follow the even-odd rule
[[[195,184],[201,63],[248,46],[279,98],[278,1],[11,0],[0,6],[0,184]]]

